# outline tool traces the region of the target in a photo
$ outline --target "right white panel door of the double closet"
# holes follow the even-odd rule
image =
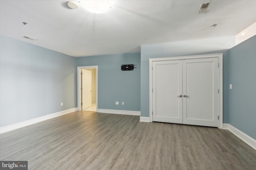
[[[183,60],[183,124],[218,127],[218,58]]]

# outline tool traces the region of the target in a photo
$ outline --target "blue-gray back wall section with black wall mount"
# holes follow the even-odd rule
[[[137,68],[121,71],[122,64]],[[77,66],[92,65],[98,66],[98,109],[140,111],[140,53],[77,58]]]

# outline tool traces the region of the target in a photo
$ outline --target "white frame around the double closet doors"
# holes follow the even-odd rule
[[[152,122],[152,62],[154,61],[167,61],[167,60],[183,60],[183,59],[200,59],[218,57],[219,62],[219,125],[218,128],[222,129],[223,125],[223,54],[208,54],[208,55],[190,55],[180,57],[165,57],[165,58],[154,58],[149,59],[149,117]]]

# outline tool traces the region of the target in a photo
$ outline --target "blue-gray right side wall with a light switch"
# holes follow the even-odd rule
[[[256,35],[229,50],[229,124],[256,139]]]

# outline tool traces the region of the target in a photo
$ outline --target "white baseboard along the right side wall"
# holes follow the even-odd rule
[[[232,132],[234,135],[239,137],[242,141],[250,145],[253,149],[256,150],[256,140],[253,139],[252,137],[246,135],[244,132],[240,131],[239,129],[236,129],[234,126],[228,124],[228,123],[223,123],[223,129],[227,129],[230,132]]]

